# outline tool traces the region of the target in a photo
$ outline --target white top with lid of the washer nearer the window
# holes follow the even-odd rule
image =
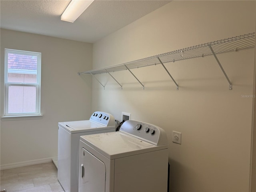
[[[115,128],[114,126],[107,127],[90,120],[59,122],[58,125],[70,133],[80,133]]]

